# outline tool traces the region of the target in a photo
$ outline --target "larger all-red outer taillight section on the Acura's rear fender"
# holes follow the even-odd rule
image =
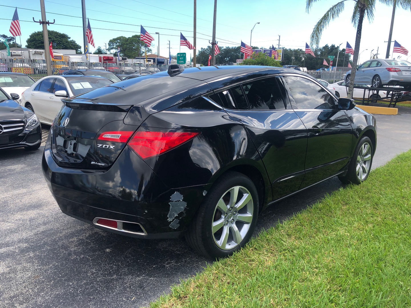
[[[199,134],[181,131],[136,131],[128,145],[142,159],[148,159],[178,147]]]

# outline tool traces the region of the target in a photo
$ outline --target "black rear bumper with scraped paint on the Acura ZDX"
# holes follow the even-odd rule
[[[80,170],[58,166],[48,145],[42,170],[63,213],[92,225],[96,217],[139,223],[148,235],[96,228],[146,239],[178,237],[204,198],[204,186],[166,187],[129,147],[108,170]]]

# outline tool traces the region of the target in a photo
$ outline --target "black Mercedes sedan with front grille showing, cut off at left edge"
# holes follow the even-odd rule
[[[0,89],[0,149],[24,147],[27,150],[38,149],[42,143],[42,128],[37,116],[29,109],[20,106]]]

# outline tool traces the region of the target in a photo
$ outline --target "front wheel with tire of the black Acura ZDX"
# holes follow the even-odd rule
[[[351,158],[347,174],[338,177],[344,184],[361,184],[364,182],[371,171],[374,149],[368,137],[361,138],[358,142],[354,155]]]

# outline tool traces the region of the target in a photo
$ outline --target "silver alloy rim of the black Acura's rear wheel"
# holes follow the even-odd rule
[[[217,202],[211,225],[215,244],[223,250],[238,246],[247,235],[254,215],[251,193],[243,186],[227,190]]]

